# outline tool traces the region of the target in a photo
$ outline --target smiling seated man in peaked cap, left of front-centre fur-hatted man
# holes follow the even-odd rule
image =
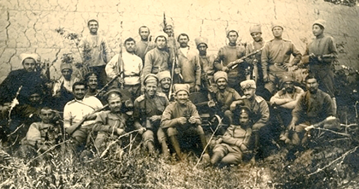
[[[134,100],[133,118],[134,127],[137,129],[146,128],[142,134],[145,144],[151,155],[155,155],[154,133],[162,146],[164,157],[169,157],[166,136],[159,127],[164,108],[169,104],[167,97],[163,93],[157,92],[158,79],[154,74],[148,74],[144,78],[145,94]]]

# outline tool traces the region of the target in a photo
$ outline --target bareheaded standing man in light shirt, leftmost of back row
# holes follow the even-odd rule
[[[99,76],[100,86],[102,87],[106,84],[105,66],[110,59],[109,47],[105,37],[97,33],[99,30],[97,20],[89,20],[87,27],[89,35],[82,38],[78,46],[82,50],[82,60]]]

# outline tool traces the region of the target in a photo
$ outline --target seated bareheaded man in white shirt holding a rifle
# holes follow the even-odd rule
[[[64,128],[72,135],[77,150],[81,150],[92,131],[96,118],[94,112],[102,109],[103,105],[94,96],[85,97],[87,85],[83,82],[74,83],[72,91],[75,99],[67,102],[64,107]]]

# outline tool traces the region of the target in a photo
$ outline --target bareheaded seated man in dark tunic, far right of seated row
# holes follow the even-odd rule
[[[300,96],[293,109],[293,118],[288,127],[289,131],[295,132],[288,132],[287,135],[283,136],[288,144],[300,145],[305,143],[307,139],[304,135],[306,127],[335,115],[332,99],[329,94],[318,89],[319,84],[316,76],[309,74],[305,81],[307,91]]]

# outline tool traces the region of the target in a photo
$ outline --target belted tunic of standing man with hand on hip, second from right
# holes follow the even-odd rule
[[[267,75],[269,66],[288,64],[291,54],[294,56],[291,65],[298,64],[301,59],[301,53],[292,41],[272,39],[266,42],[261,54],[263,76]]]

